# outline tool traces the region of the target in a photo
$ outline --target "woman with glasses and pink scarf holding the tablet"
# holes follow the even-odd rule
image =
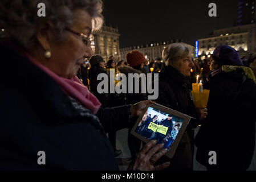
[[[40,2],[46,17],[37,16]],[[3,0],[0,12],[0,170],[117,170],[103,126],[127,126],[129,115],[151,101],[102,109],[75,76],[92,55],[89,38],[102,22],[101,1]],[[161,148],[148,143],[130,169],[168,166],[153,166],[166,152]]]

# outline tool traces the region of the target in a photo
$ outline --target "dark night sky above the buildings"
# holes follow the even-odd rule
[[[209,3],[217,17],[209,17]],[[213,30],[231,27],[237,18],[238,0],[103,0],[107,26],[118,27],[120,47],[183,39],[194,45]]]

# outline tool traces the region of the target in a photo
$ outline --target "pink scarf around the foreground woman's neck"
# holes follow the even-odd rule
[[[10,46],[18,51],[18,53],[20,53],[21,55],[27,57],[31,61],[31,63],[42,69],[42,71],[50,75],[58,83],[60,88],[62,88],[63,92],[65,92],[68,96],[78,100],[87,109],[91,110],[92,113],[97,113],[101,106],[99,100],[97,100],[97,98],[88,90],[88,88],[82,84],[78,77],[75,76],[70,79],[60,77],[52,72],[50,69],[44,67],[44,65],[36,61],[34,57],[22,51],[20,48],[17,48],[13,44]]]

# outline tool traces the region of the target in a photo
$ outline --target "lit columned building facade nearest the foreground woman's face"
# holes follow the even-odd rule
[[[116,60],[120,59],[118,28],[103,26],[100,31],[92,32],[90,39],[94,54],[99,54],[105,61],[109,56],[114,56]]]

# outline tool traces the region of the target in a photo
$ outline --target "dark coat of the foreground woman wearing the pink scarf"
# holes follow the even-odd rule
[[[127,106],[101,108],[96,117],[25,57],[2,44],[0,51],[0,170],[117,170],[101,124],[127,127]],[[46,165],[37,163],[38,151]]]

